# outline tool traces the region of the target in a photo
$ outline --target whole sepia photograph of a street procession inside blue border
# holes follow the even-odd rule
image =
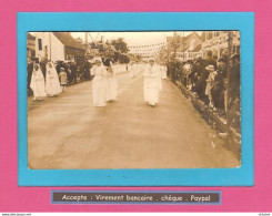
[[[31,169],[241,166],[239,31],[28,32]]]

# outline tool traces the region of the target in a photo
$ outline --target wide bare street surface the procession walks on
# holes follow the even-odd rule
[[[236,167],[239,160],[177,86],[143,102],[143,78],[118,74],[118,101],[93,107],[91,81],[43,101],[29,97],[30,168]]]

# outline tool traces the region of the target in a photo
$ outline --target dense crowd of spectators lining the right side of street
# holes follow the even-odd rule
[[[240,119],[235,120],[240,115],[240,54],[232,54],[228,60],[226,55],[218,58],[208,51],[205,59],[173,59],[168,63],[168,76],[174,83],[180,82],[219,116],[230,117],[235,127],[240,127]]]

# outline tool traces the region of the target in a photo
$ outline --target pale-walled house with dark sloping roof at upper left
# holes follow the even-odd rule
[[[70,32],[34,32],[36,56],[52,61],[78,61],[85,55],[85,48]]]

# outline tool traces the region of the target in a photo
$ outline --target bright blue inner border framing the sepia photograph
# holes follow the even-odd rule
[[[253,12],[18,13],[19,186],[252,186]],[[241,33],[242,165],[238,168],[29,169],[27,130],[28,31],[239,30]]]

